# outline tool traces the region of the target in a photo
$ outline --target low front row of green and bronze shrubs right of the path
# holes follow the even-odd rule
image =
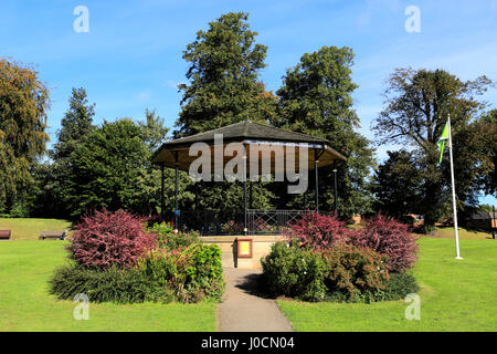
[[[373,302],[403,299],[419,287],[410,273],[389,272],[387,257],[338,243],[326,251],[277,242],[261,260],[273,296],[304,301]]]

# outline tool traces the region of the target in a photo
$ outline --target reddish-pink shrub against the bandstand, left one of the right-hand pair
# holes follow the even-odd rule
[[[337,242],[347,242],[351,230],[347,228],[346,222],[338,220],[335,216],[311,212],[292,223],[285,235],[300,247],[321,251]]]

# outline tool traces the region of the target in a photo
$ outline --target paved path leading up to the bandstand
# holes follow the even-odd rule
[[[218,306],[221,332],[290,332],[292,324],[273,299],[257,292],[261,272],[246,269],[223,269],[226,288]]]

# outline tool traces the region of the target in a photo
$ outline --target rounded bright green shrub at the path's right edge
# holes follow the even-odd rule
[[[264,281],[272,295],[307,301],[325,298],[325,264],[317,252],[276,242],[271,252],[261,260],[261,264]]]

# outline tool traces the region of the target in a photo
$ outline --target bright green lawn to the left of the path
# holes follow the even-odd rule
[[[6,220],[0,220],[0,229]],[[12,230],[35,229],[15,225],[15,219],[8,221],[13,221],[9,223]],[[76,303],[47,294],[47,280],[65,262],[64,244],[65,241],[0,241],[0,331],[215,331],[216,304],[207,302],[91,303],[89,320],[74,320]]]

